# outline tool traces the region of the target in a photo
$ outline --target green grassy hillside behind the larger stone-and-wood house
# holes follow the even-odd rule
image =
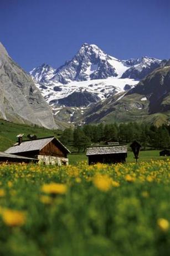
[[[48,137],[48,136],[58,136],[60,130],[48,130],[38,126],[28,126],[21,124],[14,124],[13,122],[8,122],[0,120],[0,151],[8,149],[12,146],[14,142],[17,141],[17,135],[24,134],[23,139],[28,139],[28,134],[35,134],[38,138]]]

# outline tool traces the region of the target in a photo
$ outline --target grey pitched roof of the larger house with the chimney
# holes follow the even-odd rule
[[[35,139],[35,140],[26,140],[22,141],[20,145],[18,145],[18,142],[14,144],[12,147],[9,147],[7,149],[6,153],[8,154],[17,154],[20,152],[28,152],[28,151],[35,151],[35,150],[41,150],[44,146],[46,146],[50,141],[54,140],[57,142],[58,145],[60,145],[64,151],[67,153],[70,153],[70,151],[54,136],[53,137],[46,137],[42,139]]]

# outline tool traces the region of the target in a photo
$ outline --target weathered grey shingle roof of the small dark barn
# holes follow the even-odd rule
[[[127,153],[127,146],[110,146],[110,147],[89,147],[86,155],[106,155]]]

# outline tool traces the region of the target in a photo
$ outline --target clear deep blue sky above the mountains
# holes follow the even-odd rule
[[[70,60],[84,42],[127,59],[170,58],[169,0],[0,0],[0,41],[26,71]]]

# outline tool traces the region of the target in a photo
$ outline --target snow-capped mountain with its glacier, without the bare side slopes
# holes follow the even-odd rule
[[[149,73],[153,63],[157,67],[160,62],[147,57],[122,61],[84,43],[63,66],[55,69],[43,64],[30,75],[53,109],[63,105],[86,107],[135,86],[139,81],[135,70]]]

